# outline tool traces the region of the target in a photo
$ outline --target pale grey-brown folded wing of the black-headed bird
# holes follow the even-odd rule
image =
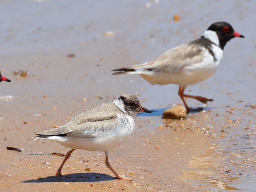
[[[203,50],[204,48],[199,44],[186,43],[168,50],[151,61],[130,68],[137,72],[141,70],[142,73],[145,71],[173,73],[202,61]]]

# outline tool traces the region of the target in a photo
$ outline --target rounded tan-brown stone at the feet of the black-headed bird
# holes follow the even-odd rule
[[[168,119],[181,119],[186,118],[187,110],[185,107],[178,105],[163,111],[163,118]]]

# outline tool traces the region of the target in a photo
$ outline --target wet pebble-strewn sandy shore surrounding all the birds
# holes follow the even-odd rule
[[[183,6],[187,1],[150,2],[148,8],[146,3],[1,2],[9,17],[0,30],[0,69],[12,83],[2,82],[0,95],[15,98],[0,100],[0,191],[253,191],[256,117],[249,105],[256,103],[255,27],[247,23],[254,3],[234,1],[226,9],[226,3],[213,1],[195,1],[193,7]],[[216,20],[230,22],[246,38],[228,42],[216,75],[187,89],[214,101],[186,120],[137,117],[133,137],[109,155],[113,168],[134,181],[116,180],[103,152],[74,151],[63,174],[84,179],[54,176],[63,157],[30,156],[65,154],[68,149],[58,143],[25,143],[121,93],[137,94],[149,109],[181,103],[176,85],[151,86],[139,76],[112,76],[111,70],[198,38]],[[28,76],[13,76],[18,70],[28,70]]]

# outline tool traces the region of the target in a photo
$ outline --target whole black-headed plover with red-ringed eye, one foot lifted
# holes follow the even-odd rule
[[[143,63],[115,69],[115,74],[139,74],[152,85],[178,84],[178,94],[190,111],[184,97],[194,98],[202,103],[212,101],[201,96],[184,94],[190,84],[212,76],[219,65],[223,48],[234,37],[244,37],[234,31],[227,22],[215,22],[204,31],[200,39],[174,47],[160,56]]]

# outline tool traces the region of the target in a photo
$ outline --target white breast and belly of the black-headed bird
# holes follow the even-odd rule
[[[195,84],[215,74],[222,59],[223,50],[214,45],[213,52],[215,54],[216,61],[214,61],[213,56],[210,53],[206,52],[202,62],[186,66],[177,72],[155,72],[140,75],[152,85],[166,85],[173,83],[180,86],[187,86],[190,84]]]

